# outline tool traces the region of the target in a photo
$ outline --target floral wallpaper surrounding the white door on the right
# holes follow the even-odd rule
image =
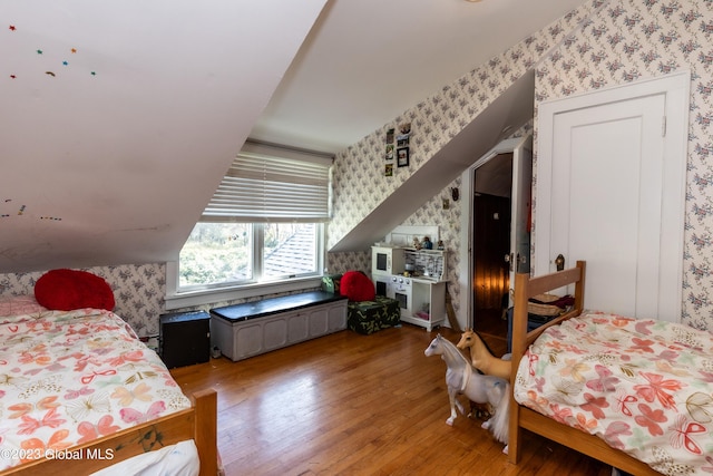
[[[536,108],[681,69],[691,71],[682,322],[713,330],[713,0],[607,2],[537,66]]]

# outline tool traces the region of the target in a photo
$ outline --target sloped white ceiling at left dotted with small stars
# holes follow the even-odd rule
[[[3,2],[0,272],[175,259],[325,1]]]

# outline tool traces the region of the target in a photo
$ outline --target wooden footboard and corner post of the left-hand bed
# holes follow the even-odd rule
[[[86,475],[140,455],[187,439],[195,440],[201,458],[201,476],[215,476],[217,455],[217,394],[201,390],[192,397],[193,406],[155,420],[78,445],[61,454],[71,459],[42,458],[0,472],[4,475],[52,476]]]

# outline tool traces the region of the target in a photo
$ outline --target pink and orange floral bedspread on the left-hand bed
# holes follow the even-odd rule
[[[189,406],[111,312],[0,318],[0,469]]]

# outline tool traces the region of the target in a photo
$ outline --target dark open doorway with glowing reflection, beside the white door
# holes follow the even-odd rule
[[[497,340],[508,329],[511,184],[511,153],[495,156],[473,175],[473,329]]]

